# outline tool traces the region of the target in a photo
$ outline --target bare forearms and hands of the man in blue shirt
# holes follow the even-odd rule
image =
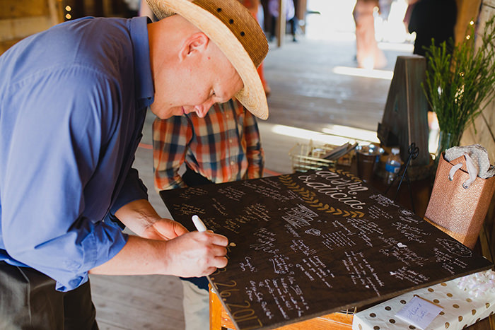
[[[158,216],[145,199],[122,206],[115,216],[139,236],[129,235],[115,257],[90,273],[199,277],[227,265],[227,237],[187,232],[180,223]]]

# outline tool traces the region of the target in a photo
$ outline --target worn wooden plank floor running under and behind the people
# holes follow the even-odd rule
[[[353,41],[317,42],[289,39],[281,49],[271,45],[264,62],[272,88],[270,116],[260,121],[267,172],[291,172],[290,148],[303,137],[274,133],[276,125],[322,131],[332,124],[375,131],[383,114],[390,80],[343,76],[336,66],[355,67]],[[393,70],[397,54],[385,52]],[[146,120],[144,147],[151,144],[152,116]],[[139,148],[136,168],[148,187],[151,203],[162,216],[168,211],[153,189],[151,151]],[[182,285],[173,276],[90,276],[100,329],[184,329]],[[206,329],[206,327],[205,327]]]

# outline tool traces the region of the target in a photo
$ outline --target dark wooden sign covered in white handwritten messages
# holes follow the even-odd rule
[[[493,266],[347,172],[161,191],[173,218],[228,237],[209,276],[238,329],[361,307]]]

